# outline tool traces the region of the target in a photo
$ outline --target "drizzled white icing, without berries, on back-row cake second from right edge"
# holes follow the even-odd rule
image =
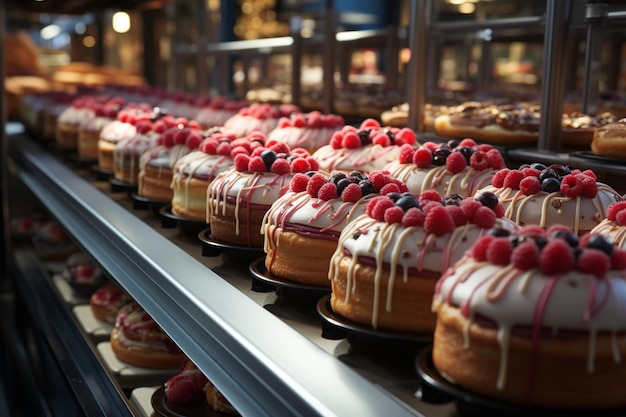
[[[562,224],[575,233],[589,231],[606,217],[608,206],[621,200],[621,196],[606,184],[598,183],[594,198],[566,197],[560,192],[526,196],[520,190],[487,186],[476,195],[490,191],[498,196],[505,208],[505,217],[520,225],[538,224],[549,227]]]

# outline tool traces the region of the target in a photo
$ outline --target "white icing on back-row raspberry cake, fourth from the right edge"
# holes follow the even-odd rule
[[[322,146],[313,153],[320,165],[320,171],[382,171],[387,164],[398,159],[399,146],[366,145],[355,149],[334,149],[331,145]]]

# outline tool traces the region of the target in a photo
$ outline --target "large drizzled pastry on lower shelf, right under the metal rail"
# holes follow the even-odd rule
[[[117,313],[111,349],[120,361],[142,368],[176,369],[184,358],[174,341],[134,301]]]

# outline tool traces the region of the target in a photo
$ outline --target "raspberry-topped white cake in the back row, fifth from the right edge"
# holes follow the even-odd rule
[[[310,153],[330,143],[333,133],[345,126],[343,117],[334,114],[292,113],[282,117],[267,139],[284,142],[291,149],[304,148]]]

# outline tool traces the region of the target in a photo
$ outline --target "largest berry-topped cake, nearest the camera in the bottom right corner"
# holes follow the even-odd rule
[[[478,239],[437,284],[435,368],[519,406],[624,407],[626,252],[560,225],[498,235]]]

